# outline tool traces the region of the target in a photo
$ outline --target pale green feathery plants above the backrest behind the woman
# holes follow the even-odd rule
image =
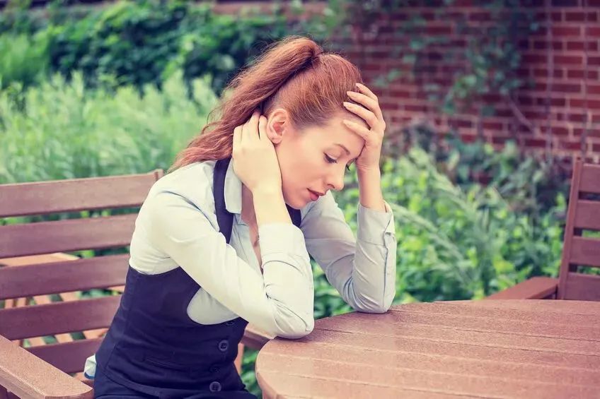
[[[86,91],[75,73],[71,83],[13,88],[22,101],[0,92],[0,183],[168,169],[217,102],[208,79],[193,85],[193,101],[180,74],[140,97],[132,86]]]

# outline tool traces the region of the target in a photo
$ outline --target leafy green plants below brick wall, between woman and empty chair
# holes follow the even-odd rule
[[[350,220],[355,179],[348,175],[350,187],[337,196]],[[463,190],[418,147],[386,160],[382,185],[396,218],[396,302],[480,298],[558,270],[562,228],[555,212],[538,219],[515,213],[495,186],[472,182]],[[564,210],[563,196],[556,208]]]

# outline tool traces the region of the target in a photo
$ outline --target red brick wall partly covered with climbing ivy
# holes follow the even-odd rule
[[[415,81],[400,78],[385,88],[376,89],[390,122],[390,131],[427,121],[441,133],[449,129],[457,131],[466,141],[481,135],[501,146],[512,138],[526,150],[551,150],[567,158],[584,155],[589,161],[599,162],[600,0],[553,0],[548,8],[545,1],[540,0],[529,9],[535,13],[541,28],[519,40],[522,61],[518,76],[531,78],[533,87],[518,91],[514,102],[517,107],[511,107],[504,97],[491,94],[454,117],[444,117],[436,105],[427,100],[423,90],[425,83],[438,83],[447,88],[456,71],[451,62],[442,60],[440,52],[460,54],[465,46],[466,37],[457,32],[456,18],[465,18],[470,24],[494,23],[490,14],[474,7],[472,1],[455,1],[443,18],[436,16],[433,8],[408,8],[402,13],[378,18],[369,32],[354,30],[350,39],[337,37],[333,42],[335,48],[342,49],[359,66],[369,83],[391,68],[407,69],[400,56],[391,56],[394,44],[402,40],[393,35],[394,27],[411,13],[420,13],[427,20],[427,30],[449,37],[451,47],[425,54],[427,61],[420,64]],[[549,45],[552,71],[548,64]],[[497,114],[480,119],[478,109],[486,103],[494,105]],[[521,119],[517,117],[519,112]]]

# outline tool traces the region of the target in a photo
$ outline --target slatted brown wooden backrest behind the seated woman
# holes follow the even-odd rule
[[[50,217],[50,221],[0,226],[0,259],[129,246],[137,208],[162,175],[156,170],[119,177],[0,185],[0,218],[62,215]],[[117,215],[103,211],[120,208],[129,209]],[[96,211],[99,215],[71,218],[81,215],[81,211]],[[64,217],[65,213],[69,218]],[[106,254],[14,267],[1,267],[0,260],[0,301],[123,285],[128,260],[128,254]],[[0,335],[23,340],[105,328],[120,301],[120,295],[70,297],[74,300],[0,309]],[[68,341],[28,350],[62,371],[76,373],[82,371],[86,357],[96,352],[101,338]]]

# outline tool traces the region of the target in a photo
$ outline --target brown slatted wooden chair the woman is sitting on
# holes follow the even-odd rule
[[[135,212],[162,175],[156,170],[0,185],[0,218],[118,208]],[[93,381],[81,371],[117,310],[129,255],[64,253],[127,247],[136,217],[125,213],[0,226],[0,399],[93,398]],[[81,291],[111,287],[116,287],[113,296],[80,299]],[[81,335],[86,339],[74,339]],[[47,344],[43,337],[57,343]],[[238,371],[244,345],[260,349],[269,339],[248,326]]]

